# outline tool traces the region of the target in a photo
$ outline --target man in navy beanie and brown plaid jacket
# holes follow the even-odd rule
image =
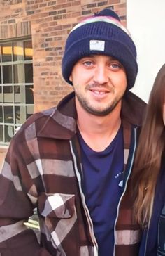
[[[137,72],[136,47],[116,13],[106,9],[73,27],[62,74],[74,93],[30,117],[6,155],[3,256],[138,255],[127,192],[145,105],[129,92]],[[35,207],[40,245],[23,224]]]

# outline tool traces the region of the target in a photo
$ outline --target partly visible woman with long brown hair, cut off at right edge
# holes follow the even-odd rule
[[[165,65],[159,70],[150,93],[139,137],[135,175],[135,217],[143,236],[139,255],[165,255]],[[162,210],[164,207],[164,210]],[[162,212],[162,215],[161,215]],[[163,216],[164,215],[164,216]],[[159,223],[159,228],[158,228]]]

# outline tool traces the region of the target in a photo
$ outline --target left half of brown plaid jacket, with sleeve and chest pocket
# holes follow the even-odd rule
[[[92,256],[94,245],[80,201],[69,139],[56,138],[62,127],[55,124],[51,113],[40,117],[30,119],[17,132],[1,171],[0,255]],[[47,124],[50,130],[38,135]],[[40,244],[24,226],[34,208],[38,210]]]

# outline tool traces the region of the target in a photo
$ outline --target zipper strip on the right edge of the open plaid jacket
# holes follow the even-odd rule
[[[126,188],[127,188],[127,183],[128,183],[128,180],[129,180],[129,176],[131,174],[131,169],[132,169],[132,165],[133,165],[133,162],[134,162],[134,155],[135,155],[135,151],[136,151],[136,139],[137,139],[137,127],[134,128],[134,149],[133,149],[132,158],[131,158],[131,165],[129,167],[129,174],[127,175],[127,180],[125,181],[124,191],[123,191],[122,196],[120,197],[119,203],[117,205],[117,215],[116,215],[115,224],[114,224],[114,238],[115,238],[115,241],[116,241],[115,231],[116,231],[117,219],[118,219],[118,216],[119,216],[119,207],[120,207],[120,203],[122,201],[122,198],[123,198],[124,193],[125,193]],[[116,243],[114,243],[114,247],[113,247],[113,256],[115,256],[115,244]]]

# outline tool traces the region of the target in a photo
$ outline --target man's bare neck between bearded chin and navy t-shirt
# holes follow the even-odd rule
[[[85,143],[94,151],[103,151],[113,141],[120,128],[121,102],[106,116],[87,113],[80,105],[77,107],[78,129]]]

